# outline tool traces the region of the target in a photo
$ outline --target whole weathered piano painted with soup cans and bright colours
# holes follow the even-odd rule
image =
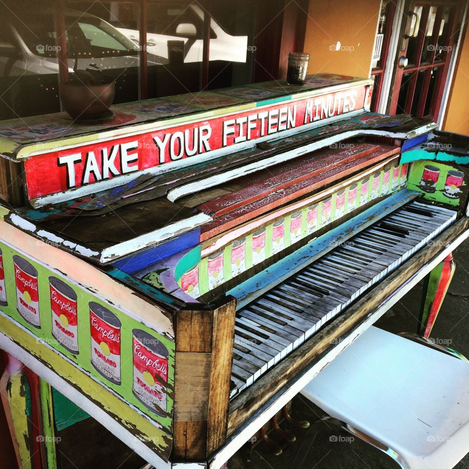
[[[320,74],[0,123],[0,387],[23,468],[23,364],[44,467],[52,386],[155,468],[218,469],[429,276],[428,335],[469,233],[468,139],[371,97]]]

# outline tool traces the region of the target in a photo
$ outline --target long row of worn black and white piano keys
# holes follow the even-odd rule
[[[236,313],[231,396],[439,235],[456,212],[404,205]]]

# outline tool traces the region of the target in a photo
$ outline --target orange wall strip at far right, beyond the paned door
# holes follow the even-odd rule
[[[443,130],[469,135],[469,29],[466,31],[459,49],[459,58],[453,75]]]

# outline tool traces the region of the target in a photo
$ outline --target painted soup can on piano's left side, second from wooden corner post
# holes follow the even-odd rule
[[[89,302],[91,364],[111,383],[121,384],[121,321],[106,307]]]

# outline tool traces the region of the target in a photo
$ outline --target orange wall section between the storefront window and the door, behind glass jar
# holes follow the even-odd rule
[[[380,0],[310,0],[304,52],[308,73],[368,77]],[[331,50],[337,42],[341,50]]]

